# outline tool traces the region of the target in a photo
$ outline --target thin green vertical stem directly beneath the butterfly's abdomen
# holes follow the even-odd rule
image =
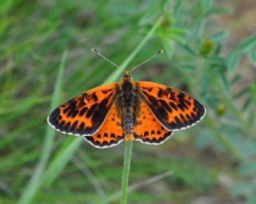
[[[127,189],[128,189],[128,179],[130,172],[130,158],[133,149],[133,141],[125,142],[125,154],[124,154],[124,163],[122,170],[122,196],[121,196],[121,204],[127,203]]]

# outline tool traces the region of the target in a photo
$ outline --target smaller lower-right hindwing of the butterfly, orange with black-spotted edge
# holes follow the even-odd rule
[[[170,138],[173,132],[166,130],[145,102],[141,102],[141,111],[134,128],[134,138],[142,143],[158,145]]]

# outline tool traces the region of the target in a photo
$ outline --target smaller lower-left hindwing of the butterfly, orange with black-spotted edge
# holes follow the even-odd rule
[[[109,110],[106,120],[96,134],[85,136],[91,145],[98,148],[116,146],[123,141],[122,122],[117,117],[115,105]]]

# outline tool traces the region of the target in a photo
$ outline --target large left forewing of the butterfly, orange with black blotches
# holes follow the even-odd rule
[[[92,135],[102,126],[114,103],[117,83],[98,86],[58,106],[47,118],[64,134]]]

